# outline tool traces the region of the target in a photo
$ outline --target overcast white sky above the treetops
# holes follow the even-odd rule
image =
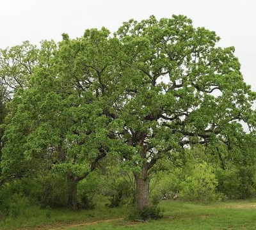
[[[186,15],[216,31],[222,47],[236,47],[244,80],[256,91],[256,0],[0,0],[0,48],[25,40],[61,40],[102,26],[116,31],[129,19]]]

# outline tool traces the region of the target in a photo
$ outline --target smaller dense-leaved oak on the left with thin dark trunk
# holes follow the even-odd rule
[[[63,34],[58,50],[53,42],[42,43],[28,88],[18,90],[10,104],[4,173],[33,171],[36,162],[48,162],[65,175],[72,209],[77,183],[111,148],[103,79],[111,61],[108,35],[106,29],[88,30],[77,40]]]

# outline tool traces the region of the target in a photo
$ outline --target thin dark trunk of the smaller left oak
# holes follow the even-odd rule
[[[67,175],[68,182],[68,208],[77,210],[77,183],[78,181],[72,175]]]

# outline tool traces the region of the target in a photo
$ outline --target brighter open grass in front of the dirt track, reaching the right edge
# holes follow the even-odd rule
[[[161,206],[165,209],[165,217],[162,220],[147,223],[115,221],[68,229],[256,229],[256,206],[250,205],[256,205],[256,203],[237,201],[206,205],[163,202]]]

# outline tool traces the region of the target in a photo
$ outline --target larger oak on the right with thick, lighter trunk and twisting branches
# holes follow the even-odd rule
[[[230,146],[242,139],[241,121],[255,125],[255,93],[243,81],[234,47],[218,47],[216,33],[193,27],[187,17],[130,20],[116,37],[126,79],[116,134],[133,147],[124,158],[136,166],[141,209],[149,204],[150,169],[164,155],[172,160],[175,151],[192,144]]]

